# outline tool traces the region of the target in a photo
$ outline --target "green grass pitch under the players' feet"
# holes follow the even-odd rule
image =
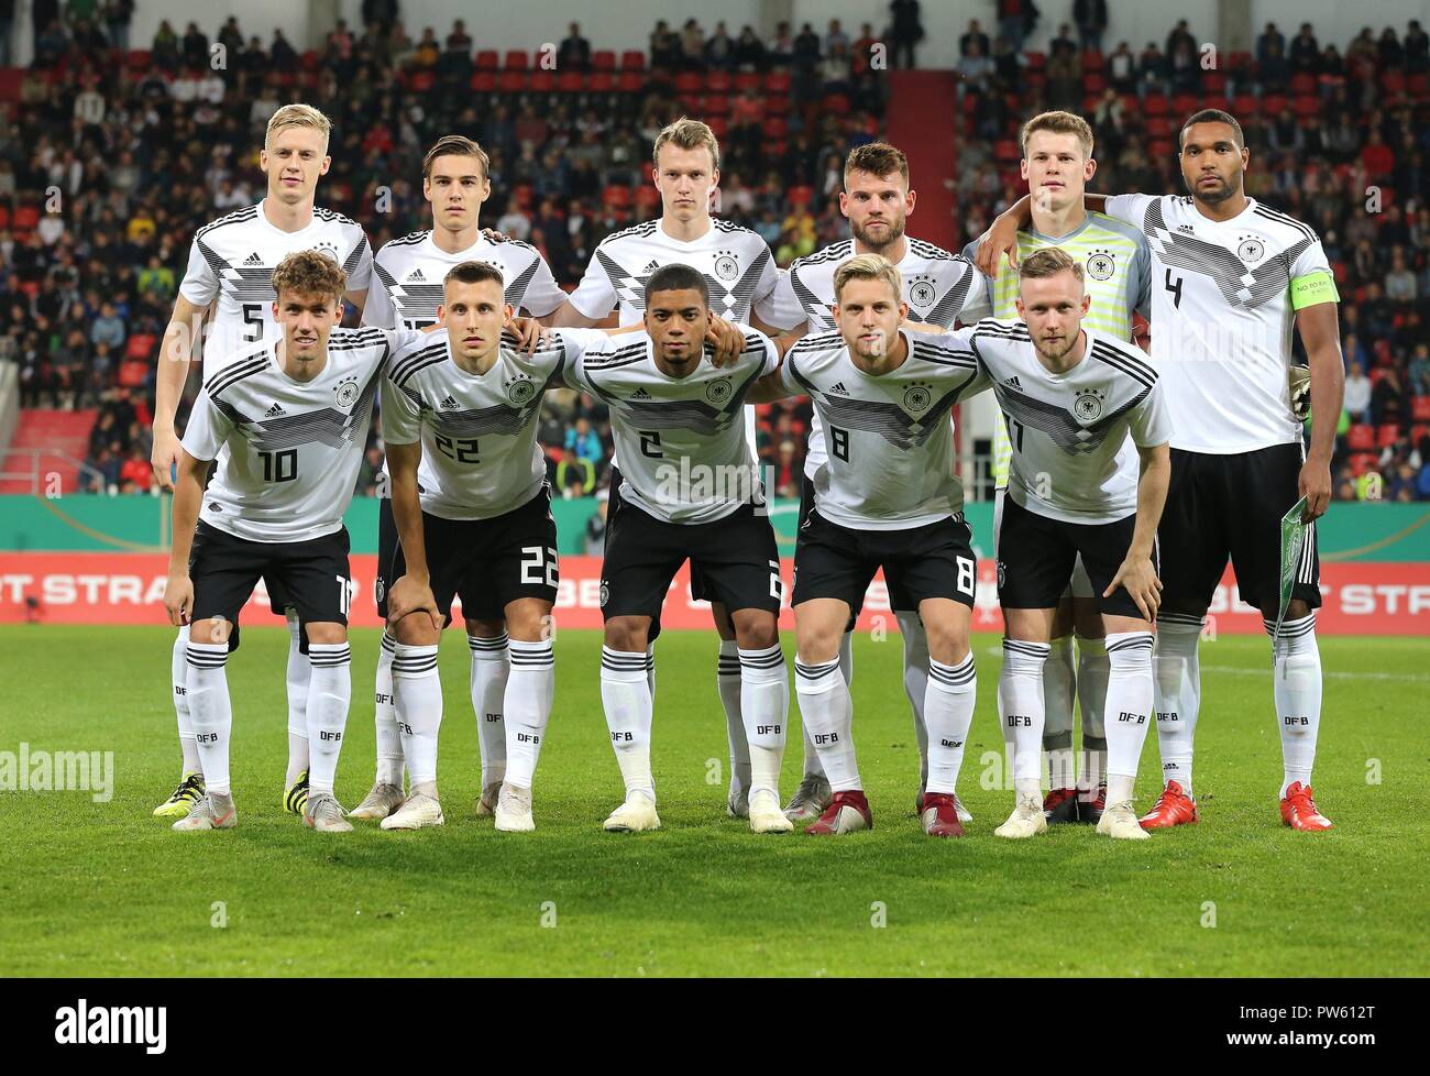
[[[1430,964],[1423,640],[1321,641],[1316,788],[1336,828],[1318,836],[1283,828],[1277,814],[1266,640],[1203,644],[1203,821],[1135,844],[1091,827],[991,836],[1011,793],[991,787],[997,771],[984,761],[1002,750],[988,635],[975,641],[978,714],[960,790],[975,818],[968,838],[931,840],[914,818],[897,635],[855,645],[854,734],[872,833],[756,837],[725,817],[716,650],[704,632],[671,632],[658,647],[664,828],[602,833],[621,783],[591,631],[556,642],[535,834],[495,833],[472,814],[476,733],[459,632],[448,632],[442,665],[446,827],[306,831],[280,810],[286,635],[257,628],[229,664],[239,827],[176,834],[149,816],[179,774],[170,640],[160,627],[0,628],[0,750],[114,753],[109,803],[0,794],[4,974],[1340,976]],[[375,651],[376,632],[355,632],[337,788],[347,806],[372,780]],[[791,744],[786,796],[798,730]],[[1155,733],[1143,774],[1145,808]]]

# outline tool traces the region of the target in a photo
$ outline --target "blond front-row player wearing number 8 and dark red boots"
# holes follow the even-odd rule
[[[954,803],[977,698],[968,648],[977,561],[954,476],[951,409],[988,388],[957,335],[918,335],[904,321],[904,282],[888,259],[858,255],[834,275],[838,333],[807,336],[755,399],[808,393],[828,459],[795,548],[795,687],[834,796],[807,833],[874,826],[854,757],[854,705],[839,638],[882,568],[914,602],[928,632],[928,788],[919,823],[961,837]]]

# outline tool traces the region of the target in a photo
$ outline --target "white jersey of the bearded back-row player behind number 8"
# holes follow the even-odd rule
[[[779,285],[768,308],[759,310],[761,319],[781,329],[807,325],[811,336],[838,332],[839,326],[834,321],[834,273],[854,253],[854,240],[841,239],[812,255],[797,258],[788,272],[779,275]],[[908,303],[911,321],[952,329],[960,316],[978,300],[980,276],[972,262],[941,246],[908,236],[904,256],[895,268],[904,279],[904,302]],[[824,429],[819,412],[815,411],[809,424],[805,474],[814,478],[822,464]]]

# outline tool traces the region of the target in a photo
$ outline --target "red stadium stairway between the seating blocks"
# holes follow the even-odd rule
[[[944,183],[958,175],[958,74],[891,72],[887,116],[888,140],[908,156],[918,192],[909,233],[958,253],[957,195]]]

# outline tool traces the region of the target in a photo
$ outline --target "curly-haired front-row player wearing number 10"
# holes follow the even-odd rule
[[[237,820],[225,662],[237,647],[239,612],[265,577],[297,607],[312,661],[303,821],[352,828],[333,796],[352,695],[343,512],[379,373],[415,333],[335,329],[345,286],[346,273],[315,250],[279,262],[272,316],[282,338],[240,349],[213,373],[184,431],[164,605],[174,624],[189,624],[186,687],[207,791],[176,830],[225,830]]]

